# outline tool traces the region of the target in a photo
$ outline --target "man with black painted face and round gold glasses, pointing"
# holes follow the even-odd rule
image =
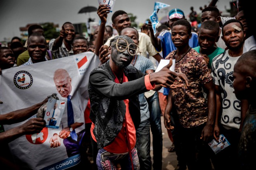
[[[114,37],[108,47],[110,61],[95,68],[89,77],[92,146],[99,149],[97,157],[94,154],[98,169],[115,168],[116,161],[123,169],[140,168],[135,149],[140,124],[138,94],[154,89],[155,84],[170,87],[176,76],[169,70],[171,60],[159,72],[142,74],[129,65],[136,49],[130,37]]]

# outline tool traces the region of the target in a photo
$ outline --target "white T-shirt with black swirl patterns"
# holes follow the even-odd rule
[[[226,50],[212,60],[212,80],[220,87],[222,97],[220,123],[226,129],[239,129],[241,123],[241,102],[233,93],[234,65],[239,57],[231,57]]]

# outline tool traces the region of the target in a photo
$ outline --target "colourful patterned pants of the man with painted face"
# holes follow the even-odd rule
[[[132,149],[132,162],[134,170],[140,169],[138,154],[135,148]],[[96,164],[98,170],[116,170],[116,164],[119,163],[124,170],[132,170],[129,153],[114,154],[100,149],[97,154]]]

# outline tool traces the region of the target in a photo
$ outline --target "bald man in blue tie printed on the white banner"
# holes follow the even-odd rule
[[[72,84],[71,78],[65,69],[58,69],[54,72],[54,83],[60,96],[67,98],[67,121],[66,116],[62,117],[62,130],[59,134],[54,133],[50,139],[50,147],[59,147],[60,138],[64,139],[63,144],[66,147],[68,157],[80,154],[81,143],[84,137],[84,122],[80,122],[80,114],[74,112],[72,106]],[[79,121],[79,123],[77,122]]]

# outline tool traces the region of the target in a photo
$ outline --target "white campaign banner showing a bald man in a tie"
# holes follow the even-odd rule
[[[99,64],[98,56],[86,52],[2,70],[1,114],[30,107],[54,93],[60,101],[56,107],[63,109],[62,117],[58,117],[58,128],[44,127],[40,133],[23,135],[9,143],[18,166],[22,169],[63,170],[81,161],[78,148],[82,146],[85,133],[84,110],[89,99],[89,74]],[[4,125],[4,129],[7,131],[22,125],[33,117],[36,115],[20,123]],[[70,131],[70,135],[63,137],[65,129]],[[60,146],[54,147],[54,143],[60,143]]]

